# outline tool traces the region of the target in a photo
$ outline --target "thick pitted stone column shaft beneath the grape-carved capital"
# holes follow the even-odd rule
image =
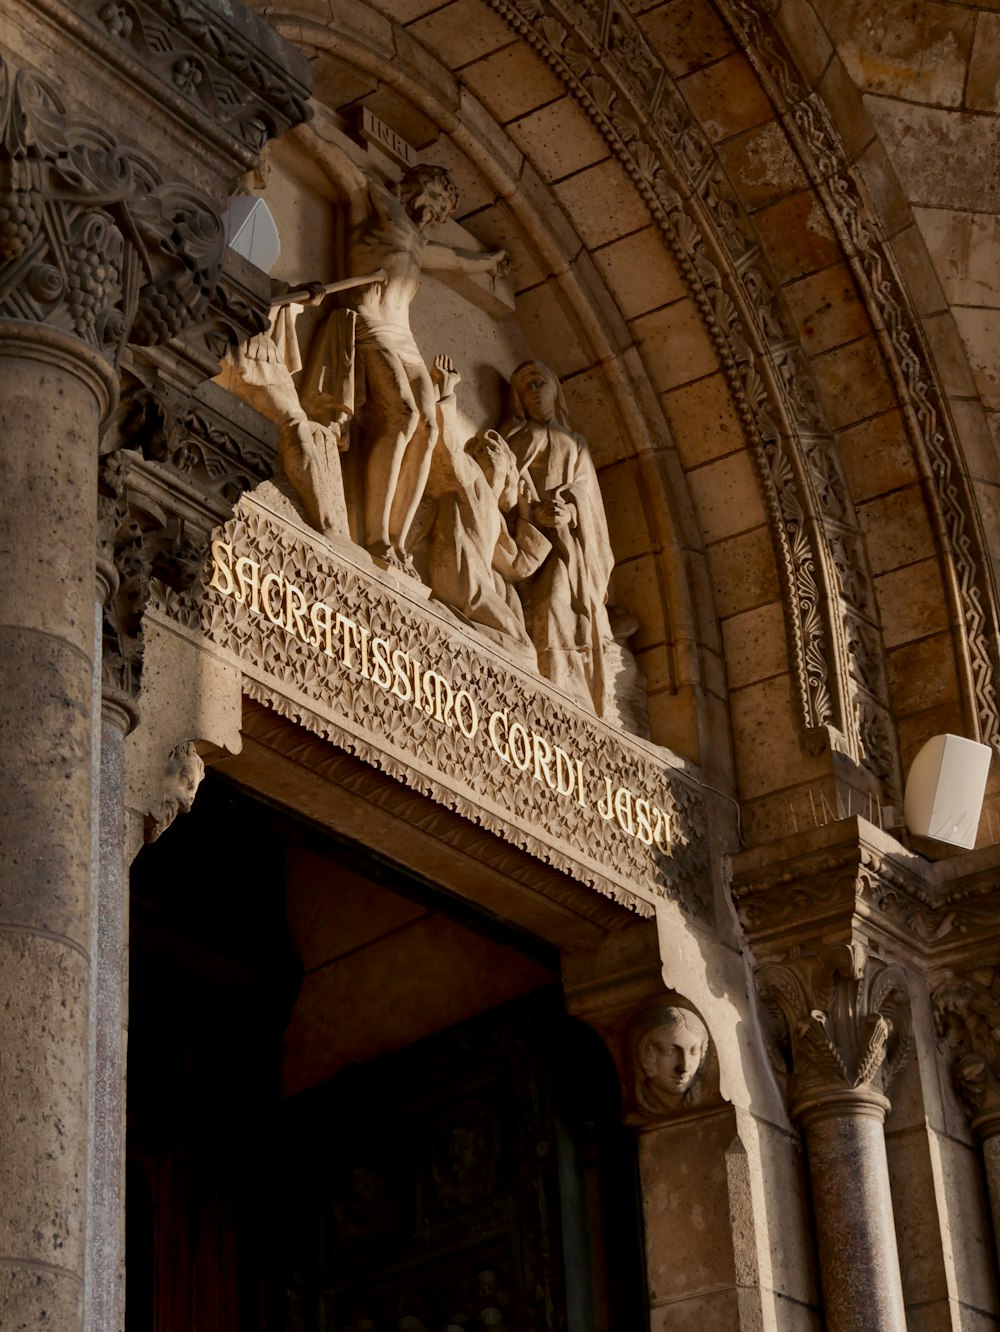
[[[88,1144],[97,445],[117,384],[0,322],[0,1325],[80,1328]]]

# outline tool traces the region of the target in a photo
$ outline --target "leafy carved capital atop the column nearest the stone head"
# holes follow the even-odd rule
[[[814,958],[766,963],[756,987],[772,1062],[790,1075],[792,1114],[831,1092],[885,1094],[912,1044],[900,967],[870,959],[859,943],[831,944]]]

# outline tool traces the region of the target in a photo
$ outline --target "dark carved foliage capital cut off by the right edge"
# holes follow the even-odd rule
[[[931,996],[935,1024],[972,1127],[1000,1132],[1000,971],[949,976]]]

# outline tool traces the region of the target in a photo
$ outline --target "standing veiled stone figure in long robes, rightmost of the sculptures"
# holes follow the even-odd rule
[[[562,388],[547,365],[525,361],[514,370],[501,433],[533,496],[531,522],[551,542],[518,594],[539,671],[602,713],[614,555],[594,460],[566,416]]]

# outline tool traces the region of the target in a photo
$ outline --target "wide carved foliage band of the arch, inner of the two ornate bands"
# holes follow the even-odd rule
[[[828,727],[836,747],[897,782],[876,602],[854,507],[798,337],[712,144],[618,0],[489,3],[601,129],[712,333],[772,517],[806,726]]]

